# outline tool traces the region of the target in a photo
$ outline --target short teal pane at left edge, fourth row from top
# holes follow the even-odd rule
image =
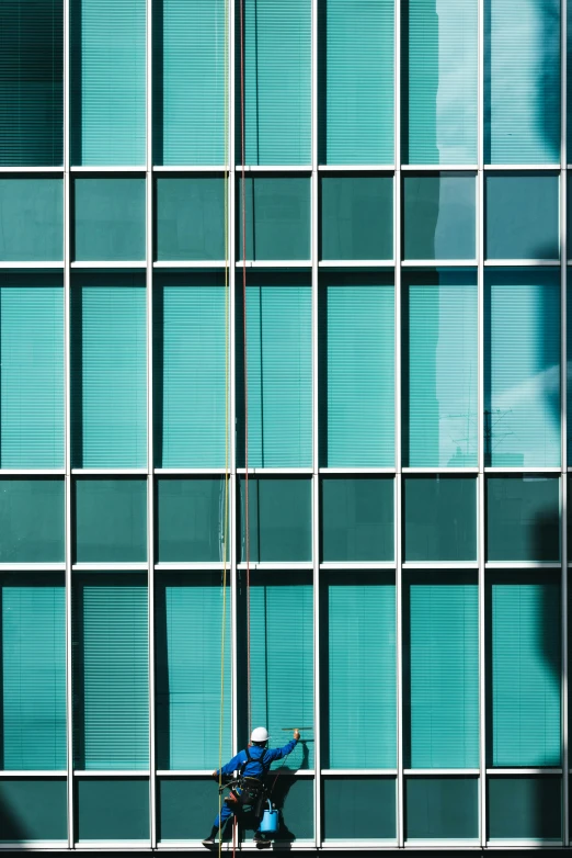
[[[64,479],[0,479],[0,563],[64,563]]]

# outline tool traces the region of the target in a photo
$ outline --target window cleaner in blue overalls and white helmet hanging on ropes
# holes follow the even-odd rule
[[[220,814],[215,820],[213,829],[208,837],[203,840],[203,846],[213,846],[217,833],[220,828],[220,836],[225,831],[227,821],[233,813],[238,813],[244,805],[254,806],[262,795],[264,787],[264,776],[268,771],[271,764],[275,759],[282,759],[291,754],[299,742],[300,732],[294,731],[294,738],[282,748],[267,748],[268,732],[266,727],[256,727],[250,736],[250,745],[237,754],[236,757],[227,763],[226,766],[213,772],[215,780],[231,778],[234,771],[238,771],[238,783],[232,787],[229,795],[225,799]],[[264,843],[260,832],[254,834],[254,843]]]

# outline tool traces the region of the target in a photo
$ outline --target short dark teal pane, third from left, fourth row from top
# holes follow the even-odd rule
[[[224,560],[225,479],[160,477],[156,490],[157,561],[217,563]]]

